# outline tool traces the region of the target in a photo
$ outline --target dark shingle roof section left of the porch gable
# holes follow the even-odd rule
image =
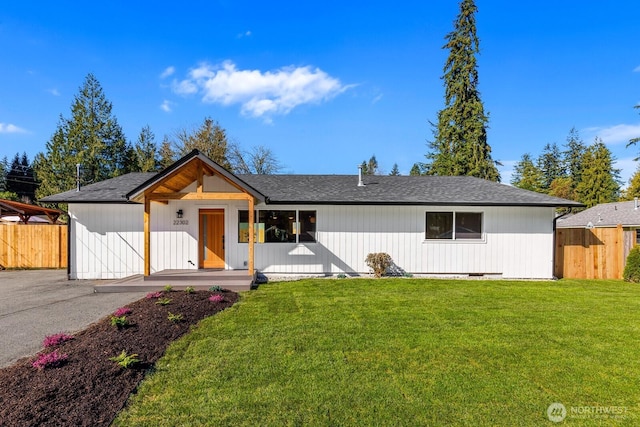
[[[40,199],[45,203],[127,203],[127,193],[156,175],[134,172]]]

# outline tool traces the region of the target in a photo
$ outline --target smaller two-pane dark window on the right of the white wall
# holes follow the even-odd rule
[[[479,212],[427,212],[426,222],[427,239],[482,239],[482,213]]]

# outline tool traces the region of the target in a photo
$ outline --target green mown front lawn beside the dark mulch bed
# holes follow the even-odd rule
[[[639,325],[621,281],[273,283],[175,342],[116,425],[538,426],[554,402],[637,425]]]

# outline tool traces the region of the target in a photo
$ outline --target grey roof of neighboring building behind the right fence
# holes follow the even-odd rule
[[[635,201],[596,205],[569,218],[560,218],[558,228],[640,227],[640,207]]]

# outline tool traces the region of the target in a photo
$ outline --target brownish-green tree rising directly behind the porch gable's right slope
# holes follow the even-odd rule
[[[176,147],[181,156],[196,149],[227,170],[231,170],[227,153],[227,132],[220,124],[206,117],[202,125],[189,132],[186,129],[176,134]]]

